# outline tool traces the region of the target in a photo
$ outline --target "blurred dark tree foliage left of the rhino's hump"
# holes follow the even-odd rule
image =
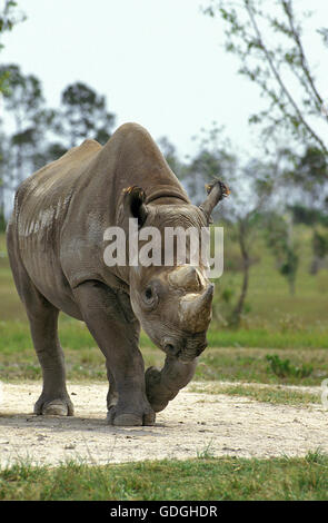
[[[0,129],[0,208],[3,215],[4,190],[14,190],[27,176],[86,138],[105,144],[115,116],[108,112],[105,97],[81,82],[63,90],[59,109],[49,109],[42,85],[34,75],[24,75],[16,65],[1,66],[1,73],[6,76],[3,99],[11,124],[7,128],[12,129],[10,134]]]

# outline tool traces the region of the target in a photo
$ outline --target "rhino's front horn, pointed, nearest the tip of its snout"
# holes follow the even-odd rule
[[[215,286],[209,284],[200,294],[188,293],[180,300],[180,314],[188,329],[201,333],[208,328],[211,320],[211,303]]]

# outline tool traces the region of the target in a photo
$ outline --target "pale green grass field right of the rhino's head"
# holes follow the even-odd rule
[[[250,267],[247,304],[249,314],[243,318],[246,325],[266,328],[298,329],[324,326],[326,332],[328,310],[328,270],[317,275],[309,274],[311,264],[311,230],[305,226],[295,227],[295,236],[300,244],[299,269],[295,296],[290,296],[286,278],[277,270],[272,254],[260,235],[255,239],[252,257],[258,262]],[[233,297],[238,295],[241,273],[229,270],[231,259],[240,257],[236,244],[231,243],[229,229],[225,229],[225,272],[218,282],[216,296],[220,288],[229,286]],[[220,308],[220,304],[219,304]],[[222,308],[222,307],[221,307]]]

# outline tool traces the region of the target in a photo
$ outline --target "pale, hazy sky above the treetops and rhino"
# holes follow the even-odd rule
[[[259,91],[237,75],[238,59],[221,47],[220,19],[201,13],[207,0],[18,3],[28,19],[3,38],[1,61],[39,77],[50,107],[58,107],[61,90],[79,80],[106,95],[116,127],[137,121],[155,139],[167,136],[181,156],[192,152],[191,137],[213,120],[241,149],[258,144],[247,120],[261,103]],[[310,6],[320,8],[326,26],[327,4],[314,0]]]

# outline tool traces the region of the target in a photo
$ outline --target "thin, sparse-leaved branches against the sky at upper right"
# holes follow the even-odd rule
[[[240,0],[238,4],[211,0],[205,12],[222,18],[226,50],[242,63],[238,72],[256,82],[269,102],[249,121],[265,126],[266,140],[284,130],[301,146],[310,140],[327,155],[327,138],[317,122],[328,124],[328,114],[322,110],[324,97],[304,47],[306,13],[298,17],[294,3],[277,0],[270,8],[264,0]],[[318,33],[327,46],[328,29],[318,29]]]

